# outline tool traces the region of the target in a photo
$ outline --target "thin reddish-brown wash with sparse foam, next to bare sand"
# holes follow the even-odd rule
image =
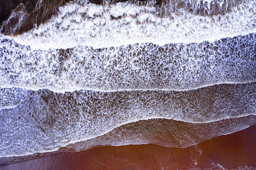
[[[94,146],[150,143],[186,148],[216,136],[248,128],[251,124],[255,124],[255,120],[255,116],[252,115],[203,124],[190,124],[170,119],[149,119],[125,124],[99,137],[69,144],[64,150],[77,152]]]

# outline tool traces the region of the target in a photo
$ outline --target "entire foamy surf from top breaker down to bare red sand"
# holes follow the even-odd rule
[[[0,157],[187,147],[256,124],[253,0],[74,0],[17,35],[29,17],[21,4],[1,24]]]

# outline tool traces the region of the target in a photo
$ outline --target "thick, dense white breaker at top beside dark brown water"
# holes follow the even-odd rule
[[[184,1],[185,7],[180,9],[176,7],[178,2],[167,2],[161,9],[165,11],[164,17],[159,17],[163,12],[153,5],[154,1],[148,1],[148,5],[144,6],[126,2],[104,6],[71,2],[60,7],[58,15],[52,20],[14,40],[32,49],[67,49],[79,45],[97,49],[146,42],[160,46],[180,42],[213,42],[256,32],[254,1],[238,3],[225,15],[206,16],[195,15],[196,9],[202,6],[200,1],[192,5],[194,12],[189,13],[186,4],[190,2]],[[201,8],[210,13],[209,6],[218,3],[204,2],[207,5]],[[218,8],[224,10],[221,3]]]

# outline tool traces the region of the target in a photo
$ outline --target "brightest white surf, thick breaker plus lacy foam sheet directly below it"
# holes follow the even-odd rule
[[[154,3],[75,1],[28,33],[0,36],[0,87],[186,91],[255,81],[254,1],[205,16],[195,15],[199,2],[184,8],[166,2],[161,9]],[[215,3],[224,10],[215,1],[203,8],[211,14]]]

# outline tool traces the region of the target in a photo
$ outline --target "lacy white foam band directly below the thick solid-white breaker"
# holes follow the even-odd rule
[[[31,50],[1,38],[0,87],[185,91],[256,80],[256,34],[213,43]]]

